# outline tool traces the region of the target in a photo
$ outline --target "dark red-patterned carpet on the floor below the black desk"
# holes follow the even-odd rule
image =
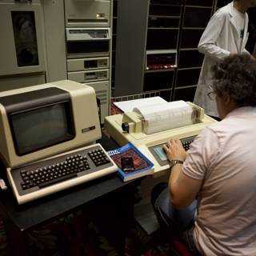
[[[159,234],[149,236],[134,218],[121,215],[132,216],[125,207],[120,206],[120,202],[110,198],[66,214],[26,234],[29,255],[177,255],[166,238]],[[4,223],[0,218],[0,255],[9,256],[8,249]]]

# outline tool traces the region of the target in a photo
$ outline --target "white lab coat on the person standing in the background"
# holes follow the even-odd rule
[[[194,103],[202,106],[206,114],[215,117],[218,117],[216,102],[207,97],[207,93],[211,90],[210,85],[213,76],[211,67],[229,56],[230,53],[249,54],[245,49],[248,39],[248,15],[246,14],[242,45],[239,44],[240,31],[236,27],[235,19],[234,2],[230,2],[228,5],[217,10],[210,18],[206,30],[203,32],[198,43],[198,50],[202,54],[205,54],[205,58],[202,63],[198,87],[194,95]]]

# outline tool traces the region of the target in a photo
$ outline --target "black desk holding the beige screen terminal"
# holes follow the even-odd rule
[[[102,139],[98,142],[106,150],[118,147],[105,135],[102,135]],[[119,194],[120,191],[132,190],[133,187],[134,182],[122,182],[122,179],[115,173],[18,206],[8,186],[8,190],[0,191],[0,207],[5,220],[8,241],[15,241],[14,246],[10,246],[14,249],[14,255],[27,255],[24,240],[26,232],[76,210],[86,203],[102,198],[106,194],[116,191]],[[132,207],[130,206],[127,214],[132,213]]]

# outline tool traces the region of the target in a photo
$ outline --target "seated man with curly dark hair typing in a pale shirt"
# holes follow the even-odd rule
[[[195,255],[256,255],[256,61],[232,55],[213,67],[208,94],[222,119],[206,126],[186,152],[164,149],[171,167],[165,189],[152,191],[160,224]]]

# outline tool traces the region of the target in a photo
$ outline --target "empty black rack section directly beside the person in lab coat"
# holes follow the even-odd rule
[[[213,14],[214,0],[186,0],[178,45],[178,69],[173,100],[193,102],[204,55],[198,52],[198,42]]]

